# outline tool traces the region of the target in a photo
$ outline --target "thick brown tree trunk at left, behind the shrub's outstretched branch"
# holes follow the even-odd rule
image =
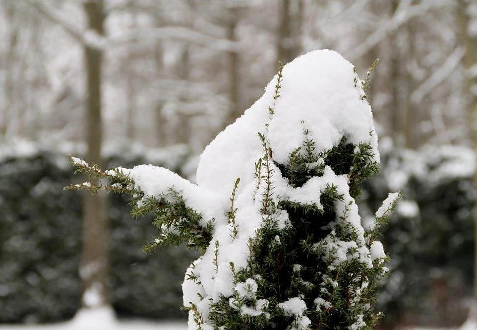
[[[106,18],[103,0],[85,0],[84,9],[88,17],[88,28],[104,35]],[[101,165],[102,118],[101,82],[103,52],[84,46],[86,66],[86,113],[87,113],[87,161]],[[108,218],[105,196],[84,195],[83,251],[80,275],[83,280],[83,301],[86,308],[109,303],[108,285]]]

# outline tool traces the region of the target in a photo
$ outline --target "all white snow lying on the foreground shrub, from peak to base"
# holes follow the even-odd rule
[[[283,68],[280,97],[274,101],[277,79],[276,75],[263,96],[205,148],[197,168],[196,185],[167,169],[151,165],[123,169],[146,197],[164,196],[169,188],[174,188],[182,192],[188,206],[202,213],[202,225],[212,219],[215,221],[209,248],[187,270],[187,274],[193,273],[199,280],[185,279],[182,285],[184,306],[197,306],[204,319],[203,329],[212,326],[208,323],[211,303],[221,297],[232,297],[236,291],[253,295],[256,290],[252,279],[244,283],[247,287],[251,284],[252,290],[248,293],[244,292],[245,286],[234,286],[230,263],[233,262],[237,270],[247,265],[248,239],[255,237],[256,229],[263,225],[260,208],[265,188],[262,182],[257,191],[255,178],[255,163],[264,156],[257,136],[259,132],[264,134],[267,146],[273,150],[273,161],[278,163],[287,163],[290,153],[302,146],[306,138],[313,139],[315,151],[319,153],[338,145],[343,136],[354,144],[370,143],[375,154],[373,160],[379,161],[371,108],[362,99],[361,80],[350,62],[330,50],[316,50],[298,57]],[[308,136],[305,136],[305,130],[308,130]],[[276,203],[292,200],[321,207],[319,198],[326,185],[337,186],[338,192],[344,196],[343,201],[335,204],[337,216],[353,225],[358,233],[358,258],[372,266],[370,252],[363,245],[364,229],[360,224],[358,206],[349,194],[346,175],[336,175],[326,167],[322,177],[312,178],[303,187],[294,189],[281,177],[273,162],[270,167],[273,170],[272,198]],[[235,198],[238,235],[233,237],[226,212],[230,209],[229,198],[237,178],[240,178]],[[290,225],[284,210],[278,210],[273,217],[279,219],[279,228]],[[214,261],[216,241],[219,242],[218,270]],[[323,241],[326,244],[330,238]],[[342,245],[348,250],[347,244]],[[260,306],[266,307],[267,304],[268,301],[260,301]],[[257,306],[250,308],[242,313],[261,313]],[[306,317],[299,317],[295,328],[305,329],[302,327],[306,327],[307,322]],[[188,329],[197,329],[191,315]]]

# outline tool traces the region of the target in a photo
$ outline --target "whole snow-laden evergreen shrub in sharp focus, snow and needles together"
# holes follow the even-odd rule
[[[373,68],[373,67],[372,67]],[[371,71],[371,70],[370,70]],[[205,148],[197,185],[152,165],[79,172],[155,214],[146,246],[186,242],[203,251],[185,273],[188,330],[371,329],[387,257],[355,198],[378,170],[372,113],[354,66],[317,50],[280,67],[264,95]]]

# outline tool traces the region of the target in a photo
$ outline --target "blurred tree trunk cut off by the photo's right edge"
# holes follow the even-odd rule
[[[470,2],[469,2],[470,3]],[[458,1],[458,21],[461,30],[461,36],[466,54],[464,56],[464,65],[468,70],[467,80],[467,114],[469,134],[474,151],[477,150],[477,95],[472,90],[477,87],[477,74],[471,72],[471,67],[477,66],[477,36],[471,36],[469,33],[468,3],[463,0]],[[473,74],[471,74],[473,73]],[[474,177],[474,187],[477,190],[477,172]],[[468,323],[477,325],[477,205],[474,206],[474,306],[469,314]],[[466,325],[465,325],[466,326]],[[467,329],[467,328],[466,328]],[[470,328],[469,328],[470,329]]]

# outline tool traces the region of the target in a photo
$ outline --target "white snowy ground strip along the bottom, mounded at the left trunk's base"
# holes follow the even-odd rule
[[[110,308],[79,311],[73,320],[51,325],[0,325],[0,330],[185,330],[185,322],[119,321]]]

